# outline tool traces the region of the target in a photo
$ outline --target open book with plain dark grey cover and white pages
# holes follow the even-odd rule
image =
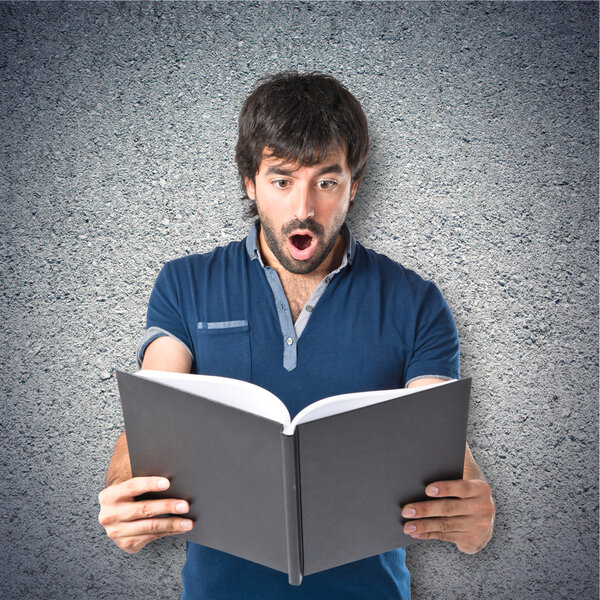
[[[190,541],[288,574],[316,573],[417,540],[401,507],[462,477],[471,380],[319,400],[291,420],[236,379],[117,372],[134,476],[185,498]]]

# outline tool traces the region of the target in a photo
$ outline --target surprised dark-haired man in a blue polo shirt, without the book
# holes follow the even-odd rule
[[[263,81],[242,108],[236,149],[258,220],[241,242],[163,267],[138,350],[142,369],[252,381],[292,416],[333,394],[457,378],[456,327],[439,290],[366,250],[345,225],[367,154],[366,118],[338,81],[295,73]],[[120,548],[137,552],[193,527],[184,500],[135,502],[168,486],[131,478],[123,433],[99,516]],[[494,504],[468,447],[464,479],[425,492],[431,500],[403,507],[398,527],[467,553],[487,544]],[[188,543],[183,583],[185,599],[410,596],[404,549],[309,575],[295,588],[283,573]]]

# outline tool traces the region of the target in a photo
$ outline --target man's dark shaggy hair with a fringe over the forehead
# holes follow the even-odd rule
[[[360,181],[369,153],[367,119],[358,100],[334,77],[277,73],[259,81],[240,112],[235,160],[244,200],[249,199],[244,179],[254,181],[265,148],[302,166],[343,148],[352,181]],[[254,202],[247,214],[256,216]]]

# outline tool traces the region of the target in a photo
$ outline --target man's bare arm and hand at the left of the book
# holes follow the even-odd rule
[[[192,359],[183,345],[164,336],[148,346],[142,369],[189,373],[191,365]],[[152,540],[192,528],[189,519],[157,518],[158,515],[188,512],[189,505],[185,500],[135,500],[140,494],[168,487],[169,480],[164,477],[131,477],[127,438],[123,432],[108,466],[106,488],[98,495],[98,521],[119,548],[135,553]]]

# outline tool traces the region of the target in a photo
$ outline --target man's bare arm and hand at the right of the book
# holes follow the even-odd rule
[[[440,379],[418,379],[408,387],[439,383]],[[491,488],[473,459],[467,444],[463,478],[437,481],[427,486],[425,493],[436,498],[412,502],[402,508],[409,519],[404,533],[418,539],[438,539],[453,542],[467,554],[479,552],[492,537],[495,507]]]

